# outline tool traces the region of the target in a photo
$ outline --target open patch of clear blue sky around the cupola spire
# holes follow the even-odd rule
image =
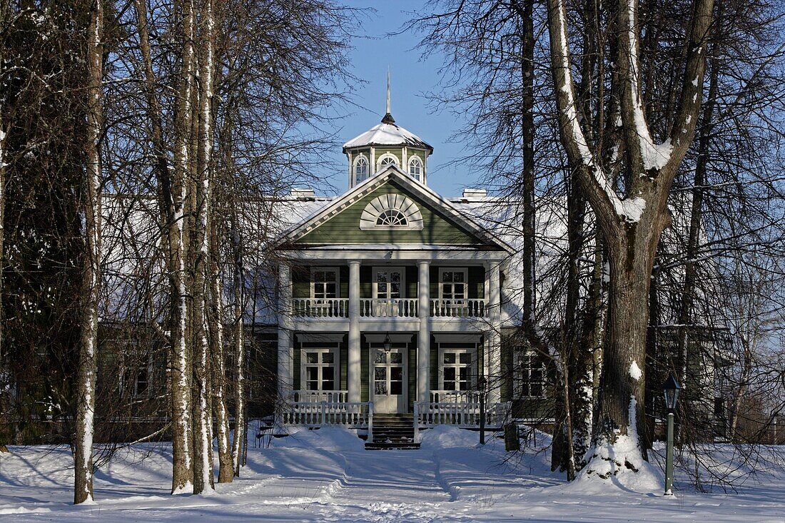
[[[422,94],[433,90],[439,77],[436,72],[442,61],[438,55],[427,60],[414,46],[417,35],[405,33],[387,37],[388,31],[398,30],[412,11],[422,9],[424,2],[412,0],[389,0],[388,2],[350,1],[354,7],[373,7],[376,13],[367,17],[364,32],[369,38],[358,38],[351,58],[352,71],[367,83],[358,86],[353,101],[356,107],[349,108],[350,114],[336,121],[336,132],[341,143],[379,123],[385,113],[385,90],[387,68],[392,75],[392,116],[400,126],[417,134],[433,146],[433,155],[428,163],[428,185],[444,196],[458,196],[466,185],[473,185],[476,176],[462,166],[444,166],[460,156],[462,144],[447,143],[452,133],[461,125],[455,115],[444,111],[432,114],[428,101]],[[334,161],[346,166],[345,156],[338,147]],[[346,171],[336,175],[332,185],[343,192],[348,188]]]

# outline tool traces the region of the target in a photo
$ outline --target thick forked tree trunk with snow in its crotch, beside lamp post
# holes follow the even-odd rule
[[[600,419],[593,457],[586,474],[608,478],[645,466],[641,454],[644,419],[644,358],[648,325],[648,289],[659,237],[670,225],[667,196],[677,167],[695,134],[706,68],[706,35],[713,0],[695,0],[685,42],[685,72],[669,138],[655,143],[644,114],[641,90],[640,29],[637,0],[619,2],[616,38],[621,130],[626,194],[614,189],[608,165],[593,151],[579,118],[571,75],[564,0],[548,1],[551,69],[557,97],[560,137],[570,163],[597,216],[608,244],[608,346],[600,383]],[[600,101],[602,102],[602,101]],[[622,144],[616,144],[621,149]]]

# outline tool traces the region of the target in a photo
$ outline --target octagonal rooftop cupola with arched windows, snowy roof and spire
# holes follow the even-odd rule
[[[362,183],[390,165],[396,166],[415,180],[425,184],[428,156],[433,147],[414,133],[395,123],[390,112],[390,76],[387,73],[387,112],[382,123],[344,144],[349,159],[349,188]]]

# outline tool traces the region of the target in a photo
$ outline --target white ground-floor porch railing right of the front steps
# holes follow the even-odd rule
[[[485,406],[485,426],[498,429],[509,415],[509,401]],[[465,428],[480,426],[480,402],[418,401],[414,403],[414,428],[419,430],[437,425]]]

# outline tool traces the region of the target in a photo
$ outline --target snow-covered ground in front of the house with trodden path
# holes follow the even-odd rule
[[[546,440],[546,437],[540,437]],[[547,441],[544,441],[547,443]],[[736,494],[663,498],[597,480],[564,484],[547,455],[441,427],[418,451],[365,451],[347,430],[304,430],[249,448],[243,477],[213,496],[170,496],[170,449],[138,445],[96,477],[97,504],[73,507],[68,448],[0,454],[2,521],[785,521],[785,472]]]

